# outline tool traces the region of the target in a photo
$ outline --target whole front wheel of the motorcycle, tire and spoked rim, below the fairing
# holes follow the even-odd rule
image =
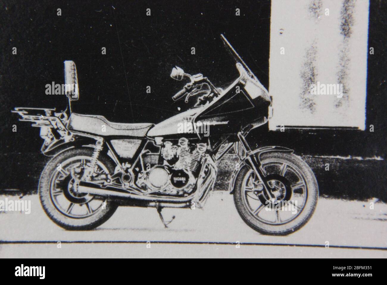
[[[315,175],[300,157],[288,152],[267,152],[260,157],[272,187],[271,197],[248,166],[238,173],[234,188],[236,209],[245,223],[265,235],[288,235],[311,218],[319,188]]]

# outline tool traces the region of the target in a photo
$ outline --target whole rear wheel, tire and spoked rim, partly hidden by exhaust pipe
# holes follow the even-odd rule
[[[81,175],[82,166],[84,169],[90,163],[92,153],[93,149],[86,147],[65,150],[46,164],[40,176],[41,205],[48,217],[66,230],[92,230],[107,221],[117,209],[106,197],[77,193],[72,188],[72,169],[76,168]],[[96,166],[98,175],[106,176],[113,171],[111,159],[100,154]]]

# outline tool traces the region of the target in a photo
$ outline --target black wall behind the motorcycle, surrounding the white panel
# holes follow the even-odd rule
[[[29,154],[39,153],[42,142],[38,128],[18,122],[10,110],[20,106],[64,109],[63,95],[45,94],[45,85],[51,81],[64,83],[64,60],[77,65],[80,100],[73,111],[100,114],[117,122],[159,123],[186,109],[183,102],[171,100],[184,84],[169,77],[175,65],[191,74],[203,73],[216,86],[231,83],[238,73],[220,40],[221,33],[269,88],[270,1],[0,3],[0,173],[5,187],[16,185],[10,177],[29,175]],[[370,3],[368,45],[375,54],[368,55],[366,125],[374,125],[373,133],[368,129],[286,130],[252,133],[250,140],[291,147],[298,154],[385,158],[386,7],[385,1]],[[58,8],[62,16],[57,16]],[[151,16],[146,16],[147,8]],[[235,16],[236,8],[241,16]],[[13,47],[17,55],[12,54]],[[101,54],[102,47],[106,55]],[[150,94],[147,86],[151,86]],[[385,181],[374,171],[370,175]]]

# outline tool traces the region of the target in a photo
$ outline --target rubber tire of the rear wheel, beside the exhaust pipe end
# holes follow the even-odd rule
[[[70,181],[71,178],[69,177],[71,176],[71,174],[68,174],[69,176],[66,176],[66,177],[64,174],[60,174],[60,171],[58,171],[59,164],[63,165],[63,163],[66,163],[66,161],[71,161],[72,159],[75,159],[77,157],[79,157],[79,159],[84,159],[85,161],[87,161],[87,158],[91,159],[93,150],[94,149],[86,148],[86,147],[79,148],[79,149],[65,150],[60,154],[56,155],[55,157],[53,157],[46,164],[40,176],[39,198],[40,198],[41,205],[44,211],[46,212],[47,216],[58,226],[61,226],[66,230],[92,230],[102,225],[105,221],[107,221],[117,209],[117,206],[116,204],[114,204],[114,202],[104,197],[88,194],[88,195],[80,195],[80,198],[78,198],[78,197],[74,197],[74,195],[79,195],[79,194],[70,193],[69,192],[70,190],[66,192],[66,187],[69,188],[67,185],[69,185],[69,183],[71,182]],[[98,165],[101,166],[101,169],[103,168],[105,169],[104,173],[114,172],[114,169],[115,169],[114,163],[111,161],[110,158],[102,154],[99,155]],[[66,167],[66,166],[63,165],[63,167]],[[65,172],[68,173],[68,171],[66,170]],[[61,180],[60,179],[55,180],[56,177],[65,177],[65,178],[62,178]],[[58,184],[57,181],[65,181],[63,182],[64,186],[62,185],[63,186],[62,188],[64,189],[63,194],[61,194],[60,190],[56,188]],[[67,183],[67,181],[70,181],[70,182]],[[68,214],[66,211],[63,212],[63,209],[61,209],[58,206],[56,195],[58,196],[63,195],[63,197],[61,197],[61,199],[64,201],[63,203],[66,203],[66,199],[67,199],[67,201],[70,203],[68,206],[68,209],[70,209],[71,207],[70,212],[72,211],[74,206],[77,206],[80,209],[84,206],[86,211],[86,214],[84,215],[84,217],[82,218],[81,215],[77,217],[72,214]],[[95,209],[95,212],[93,212],[92,207],[89,205],[89,202],[91,202],[92,200],[93,200],[93,203],[96,202],[95,204],[99,204],[99,200],[101,200],[102,206],[98,207],[98,209]],[[89,202],[86,202],[86,201],[89,201]],[[105,204],[103,205],[102,203],[105,203]],[[70,206],[71,204],[73,205]]]

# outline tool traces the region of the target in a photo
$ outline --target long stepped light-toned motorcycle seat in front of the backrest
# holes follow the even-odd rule
[[[72,113],[68,129],[101,136],[146,136],[148,130],[154,126],[151,123],[127,124],[113,123],[104,116],[81,115]]]

